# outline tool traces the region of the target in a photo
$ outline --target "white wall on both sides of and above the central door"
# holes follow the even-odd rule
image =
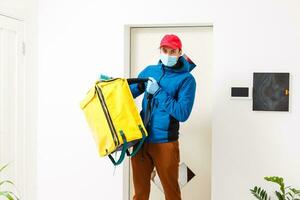
[[[214,200],[252,199],[263,176],[300,187],[296,0],[40,0],[39,199],[122,199],[122,169],[98,158],[79,102],[100,72],[123,75],[125,24],[214,24]],[[253,71],[288,71],[291,112],[228,99]],[[298,81],[298,82],[297,82]],[[298,84],[297,84],[298,83]]]

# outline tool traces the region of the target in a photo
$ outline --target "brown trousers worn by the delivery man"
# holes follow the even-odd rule
[[[151,173],[156,168],[164,189],[166,200],[181,200],[178,184],[179,143],[145,143],[143,148],[131,158],[135,194],[133,200],[148,200]]]

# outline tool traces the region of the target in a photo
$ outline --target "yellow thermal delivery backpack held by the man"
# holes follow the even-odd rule
[[[100,156],[109,156],[119,165],[127,156],[141,149],[148,133],[139,115],[129,84],[148,79],[122,79],[97,81],[81,101],[86,120],[92,130]],[[135,146],[130,153],[128,149]],[[117,161],[112,153],[121,151]]]

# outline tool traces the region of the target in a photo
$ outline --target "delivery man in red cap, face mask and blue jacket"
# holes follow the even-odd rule
[[[154,167],[166,200],[181,199],[178,184],[179,122],[186,121],[192,111],[196,81],[190,71],[194,67],[195,64],[182,55],[179,37],[168,34],[160,42],[158,64],[146,67],[138,75],[139,78],[149,78],[149,81],[130,86],[134,98],[146,91],[141,117],[149,133],[143,148],[131,158],[134,200],[149,199]],[[152,99],[147,98],[149,94]],[[151,112],[146,115],[147,109]]]

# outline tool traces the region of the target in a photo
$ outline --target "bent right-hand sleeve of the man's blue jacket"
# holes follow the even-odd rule
[[[196,81],[193,76],[186,79],[178,91],[178,99],[170,96],[160,88],[155,93],[159,106],[180,122],[186,121],[192,111],[196,92]]]

